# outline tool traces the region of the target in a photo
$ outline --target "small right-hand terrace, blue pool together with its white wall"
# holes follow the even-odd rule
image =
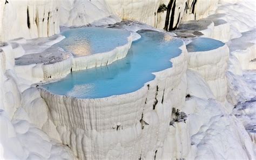
[[[201,40],[200,40],[201,39]],[[227,94],[227,81],[225,73],[227,71],[227,61],[229,49],[221,41],[207,38],[196,38],[200,40],[187,45],[188,49],[188,68],[201,74],[211,88],[215,98],[225,102]],[[217,43],[213,46],[212,43]],[[198,47],[197,45],[201,45]],[[207,50],[207,47],[209,50]]]

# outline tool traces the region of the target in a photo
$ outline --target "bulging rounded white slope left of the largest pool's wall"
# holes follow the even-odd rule
[[[4,43],[0,50],[0,159],[73,159],[68,147],[41,130],[43,123],[45,129],[50,127],[44,117],[48,107],[40,94],[28,94],[23,98],[21,79],[11,66],[15,52],[11,44]]]

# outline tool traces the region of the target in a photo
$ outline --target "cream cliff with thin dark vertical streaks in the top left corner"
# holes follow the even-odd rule
[[[49,37],[59,33],[59,1],[1,1],[1,40]]]

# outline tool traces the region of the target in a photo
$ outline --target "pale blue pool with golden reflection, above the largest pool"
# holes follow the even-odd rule
[[[120,29],[105,29],[101,27],[82,27],[61,33],[66,38],[53,47],[62,47],[74,55],[89,55],[111,51],[125,45],[130,32]]]

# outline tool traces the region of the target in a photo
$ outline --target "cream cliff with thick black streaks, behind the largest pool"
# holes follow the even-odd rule
[[[110,8],[122,19],[139,20],[159,29],[175,30],[181,21],[205,18],[217,9],[218,0],[106,0]],[[160,5],[166,10],[158,12]]]

